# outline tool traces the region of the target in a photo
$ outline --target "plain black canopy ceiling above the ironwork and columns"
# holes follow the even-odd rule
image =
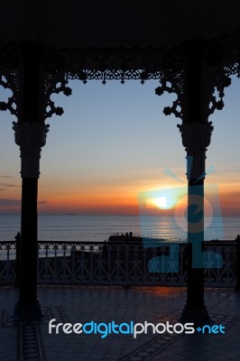
[[[173,46],[240,28],[238,0],[5,0],[0,37],[47,47]]]

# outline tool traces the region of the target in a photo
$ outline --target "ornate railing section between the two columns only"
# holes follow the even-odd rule
[[[167,254],[168,248],[166,245],[145,248],[142,244],[41,243],[39,282],[183,285],[186,270],[178,273],[176,259],[171,262],[166,257],[162,264],[164,273],[156,271],[159,255]],[[176,250],[179,252],[178,245]]]

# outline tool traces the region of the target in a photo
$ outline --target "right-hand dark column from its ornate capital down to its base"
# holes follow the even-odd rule
[[[203,241],[205,159],[212,130],[210,124],[180,125],[188,177],[188,282],[182,319],[198,324],[209,321],[204,301]]]

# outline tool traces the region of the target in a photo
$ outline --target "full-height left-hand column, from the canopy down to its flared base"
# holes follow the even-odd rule
[[[19,301],[15,305],[14,316],[16,319],[33,320],[42,317],[37,298],[37,201],[41,148],[46,141],[48,126],[42,121],[42,49],[37,44],[23,45],[22,56],[22,108],[18,122],[14,123],[15,143],[21,151],[23,179]]]

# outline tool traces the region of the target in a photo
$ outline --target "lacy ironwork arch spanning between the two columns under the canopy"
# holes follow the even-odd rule
[[[69,80],[79,79],[84,84],[88,80],[119,80],[122,84],[130,79],[140,80],[142,84],[150,79],[158,79],[162,86],[156,94],[164,91],[176,93],[177,100],[164,113],[182,117],[183,69],[184,59],[180,51],[156,49],[110,49],[110,50],[75,50],[50,52],[45,59],[45,117],[53,114],[60,116],[63,109],[55,106],[52,94],[63,92],[71,94],[67,86]],[[170,86],[171,84],[171,86]]]

